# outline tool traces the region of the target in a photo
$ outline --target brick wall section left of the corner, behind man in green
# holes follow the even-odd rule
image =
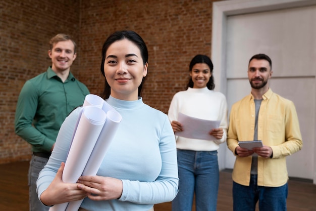
[[[44,72],[49,39],[57,33],[79,40],[79,1],[0,2],[0,163],[29,159],[30,145],[14,132],[16,103],[24,82]],[[78,61],[72,70],[76,75]]]

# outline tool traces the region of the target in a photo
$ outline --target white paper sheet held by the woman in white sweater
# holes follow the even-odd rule
[[[220,120],[204,120],[190,117],[183,113],[179,113],[178,121],[183,125],[183,131],[176,132],[176,136],[202,140],[215,140],[216,138],[208,133],[212,129],[219,128],[221,123]]]

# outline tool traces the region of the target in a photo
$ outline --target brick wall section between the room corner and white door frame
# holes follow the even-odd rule
[[[101,48],[116,30],[134,30],[149,53],[144,102],[167,113],[173,95],[185,89],[196,54],[210,56],[213,1],[83,1],[80,78],[94,94],[103,90]],[[83,79],[84,78],[84,79]]]

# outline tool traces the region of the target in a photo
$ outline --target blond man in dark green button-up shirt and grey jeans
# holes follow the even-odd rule
[[[38,173],[54,149],[63,121],[89,94],[88,88],[70,72],[77,53],[69,35],[52,37],[48,56],[52,65],[25,82],[15,113],[15,132],[32,145],[33,151],[28,174],[30,211],[48,210],[36,193]]]

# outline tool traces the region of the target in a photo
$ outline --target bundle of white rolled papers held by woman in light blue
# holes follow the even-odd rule
[[[81,175],[96,175],[121,121],[120,113],[102,98],[86,96],[65,162],[64,182],[76,183]],[[56,204],[49,211],[77,211],[82,201]]]

